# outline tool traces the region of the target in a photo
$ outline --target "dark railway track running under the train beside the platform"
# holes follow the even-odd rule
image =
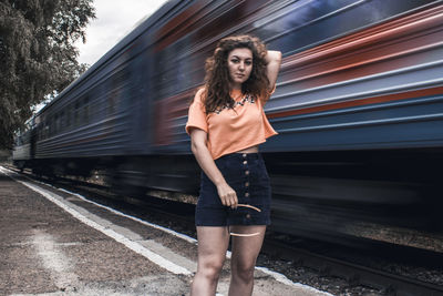
[[[9,169],[18,172],[13,167]],[[35,180],[35,176],[29,172],[23,174]],[[49,180],[38,180],[49,182]],[[150,217],[154,215],[156,220],[162,220],[166,226],[179,227],[178,231],[195,236],[195,206],[193,204],[147,195],[143,200],[122,197],[110,191],[107,186],[78,180],[58,178],[56,181],[51,181],[51,184],[79,192],[95,202],[119,206],[123,211],[135,211],[136,215],[150,215]],[[141,208],[143,208],[143,214],[140,212]],[[278,234],[269,232],[262,247],[265,254],[271,258],[287,259],[295,262],[298,266],[312,268],[320,276],[339,277],[346,279],[350,285],[373,287],[380,292],[380,295],[443,295],[443,277],[440,285],[419,280],[406,275],[390,273],[382,268],[365,266],[358,263],[359,259],[356,259],[354,255],[349,255],[350,253],[347,249],[349,248],[353,252],[357,249],[360,258],[363,256],[369,261],[373,257],[383,257],[394,262],[404,261],[408,264],[420,264],[422,268],[440,267],[440,269],[443,266],[441,253],[358,237],[348,238],[352,241],[348,242],[352,246],[351,248],[349,246],[337,246],[321,242],[315,243],[299,238],[293,243],[293,239],[277,237],[279,237]]]

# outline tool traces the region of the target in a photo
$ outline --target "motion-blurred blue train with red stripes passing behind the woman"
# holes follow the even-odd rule
[[[231,34],[284,54],[260,151],[274,229],[327,238],[356,222],[442,226],[443,3],[167,1],[35,114],[14,164],[131,194],[198,193],[185,133],[204,61]]]

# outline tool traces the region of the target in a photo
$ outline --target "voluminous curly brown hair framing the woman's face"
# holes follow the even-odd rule
[[[247,81],[241,84],[241,92],[261,100],[269,96],[269,80],[266,72],[266,45],[251,35],[233,35],[222,39],[214,54],[206,60],[205,91],[203,101],[206,113],[223,106],[233,108],[234,99],[229,94],[228,55],[234,49],[249,49],[253,52],[253,70]]]

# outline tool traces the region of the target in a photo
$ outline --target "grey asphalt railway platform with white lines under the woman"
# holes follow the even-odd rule
[[[188,295],[196,257],[192,237],[0,166],[1,295]],[[254,295],[330,295],[266,268],[255,276]]]

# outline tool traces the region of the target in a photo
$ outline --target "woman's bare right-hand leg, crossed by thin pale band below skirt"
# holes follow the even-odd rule
[[[265,237],[265,225],[231,226],[235,233],[259,233],[255,236],[233,236],[233,255],[230,258],[231,278],[229,296],[253,295],[254,268]]]

